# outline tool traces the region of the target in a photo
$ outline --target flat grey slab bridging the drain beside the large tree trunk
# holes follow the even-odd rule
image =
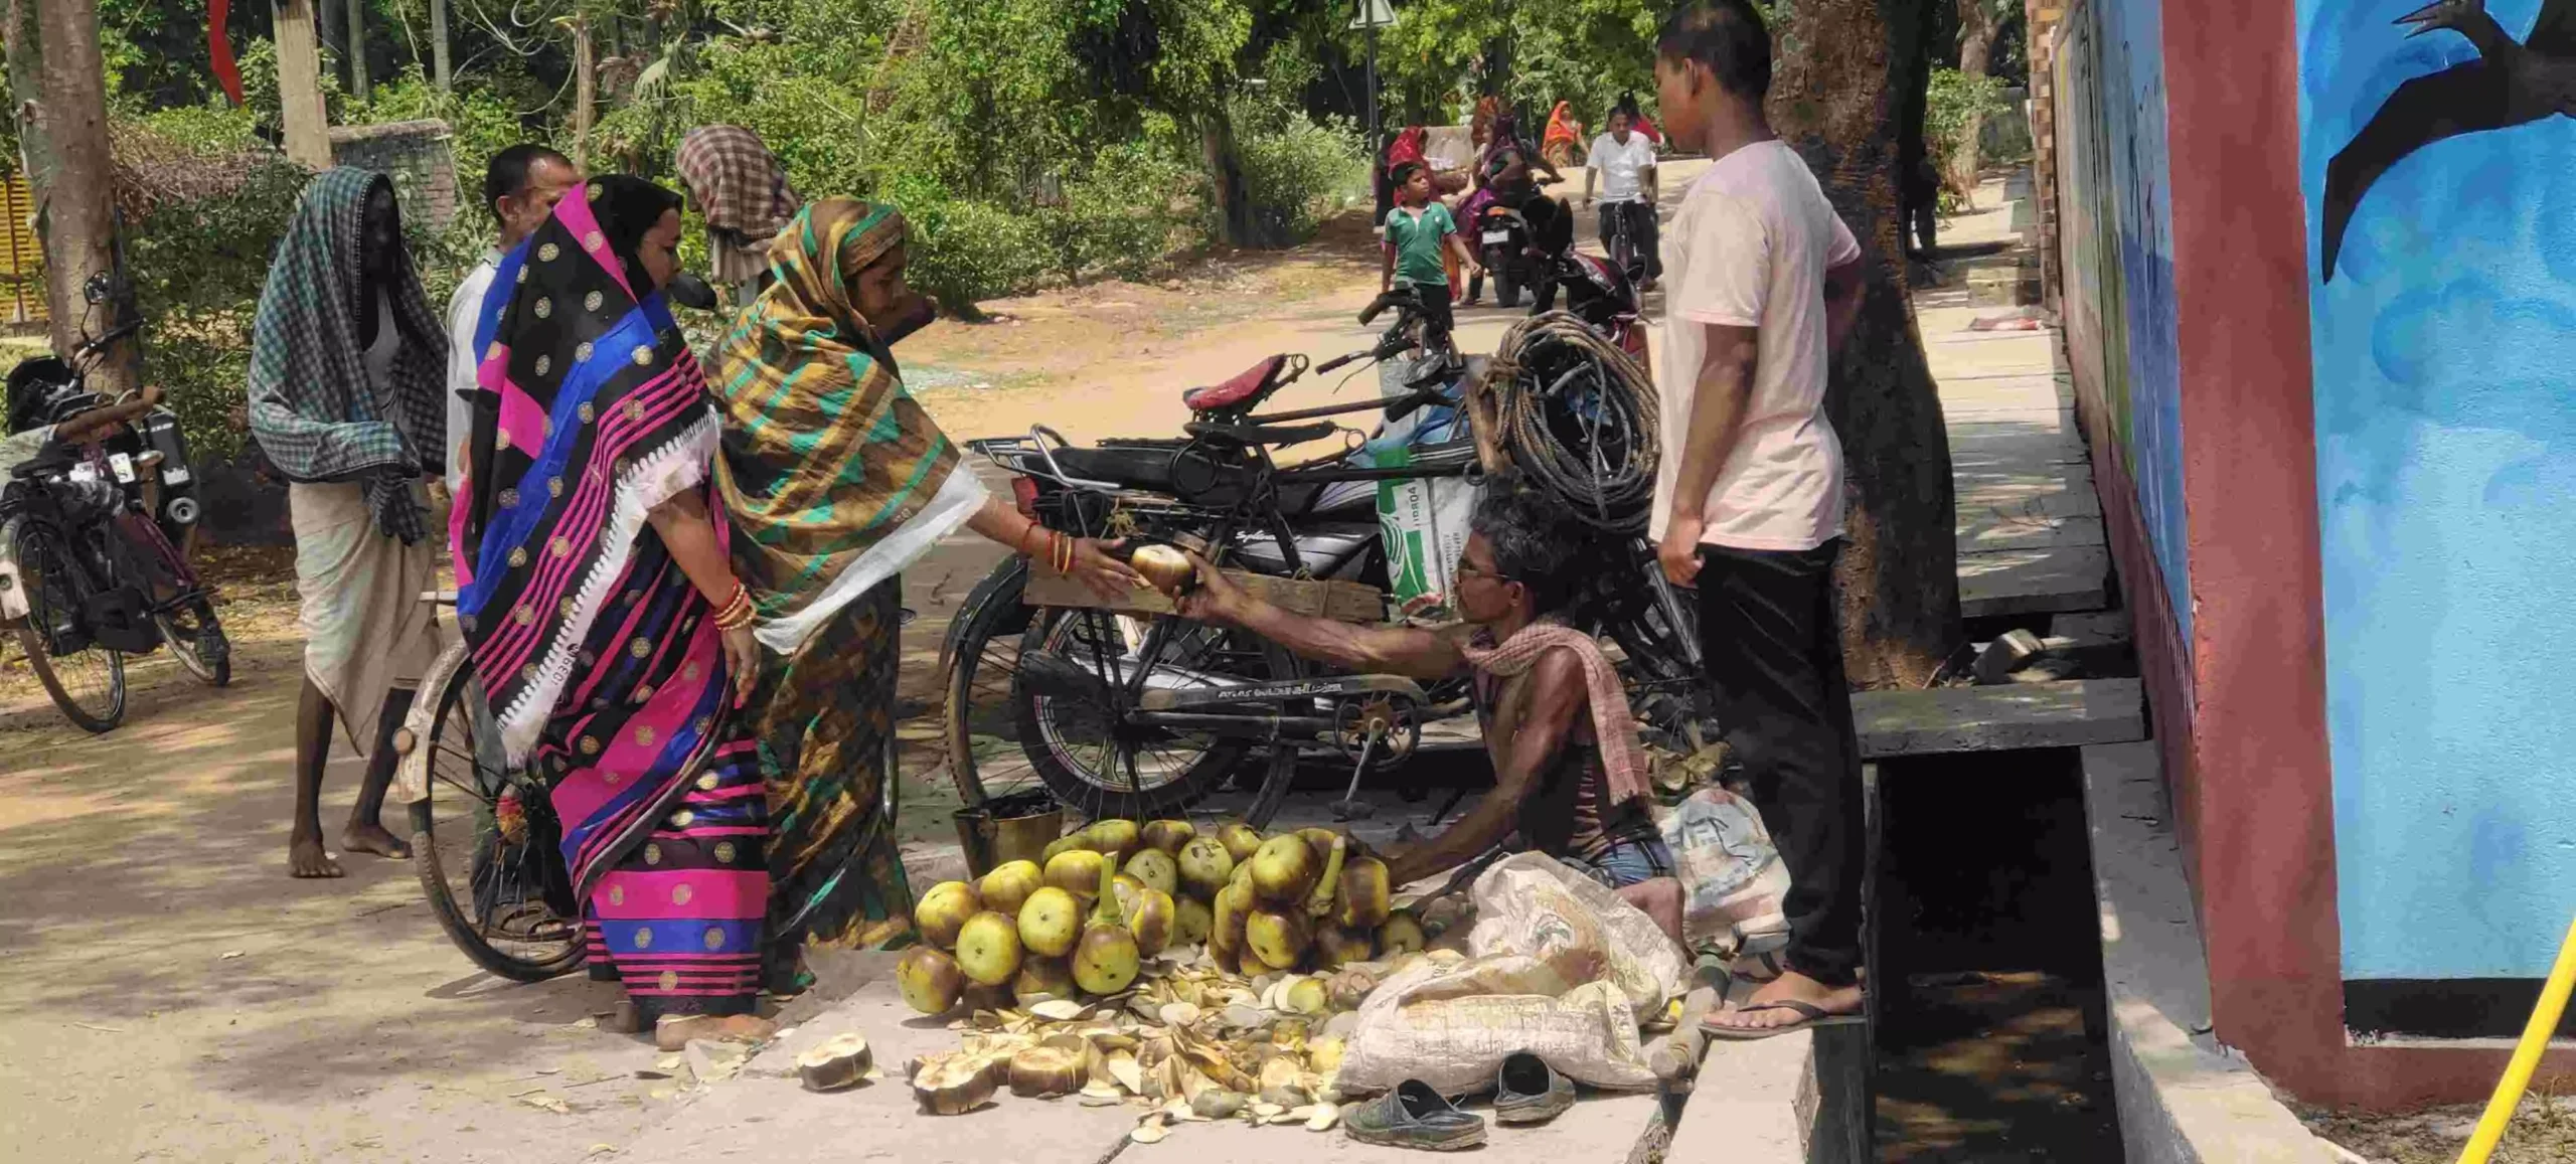
[[[2125,744],[2146,739],[2146,688],[2138,680],[2056,680],[1862,690],[1852,695],[1852,724],[1865,760]]]

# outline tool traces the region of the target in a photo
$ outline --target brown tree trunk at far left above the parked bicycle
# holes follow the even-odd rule
[[[52,144],[54,165],[31,173],[36,221],[44,232],[46,296],[59,337],[88,317],[85,283],[116,268],[116,160],[108,152],[108,82],[98,52],[98,8],[90,0],[41,0],[36,5],[44,98],[36,118]],[[124,301],[100,304],[90,317],[98,332],[116,327],[134,309]],[[70,348],[64,348],[70,350]],[[90,386],[116,397],[142,376],[142,350],[121,340],[90,373]]]

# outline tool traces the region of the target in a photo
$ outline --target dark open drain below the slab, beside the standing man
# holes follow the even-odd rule
[[[1886,760],[1878,811],[1878,1159],[2117,1164],[2079,752]]]

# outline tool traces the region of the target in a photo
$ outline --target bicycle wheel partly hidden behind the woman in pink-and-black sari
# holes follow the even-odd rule
[[[438,927],[474,966],[546,981],[582,966],[582,922],[544,788],[500,762],[466,646],[430,667],[404,724],[422,773],[412,801],[412,868]],[[482,724],[477,724],[482,721]],[[507,801],[507,806],[505,806]]]

